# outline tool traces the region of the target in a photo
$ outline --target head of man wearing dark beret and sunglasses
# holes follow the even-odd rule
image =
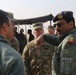
[[[59,36],[75,27],[75,20],[72,11],[62,11],[58,13],[53,18],[53,22],[55,23],[54,26]]]

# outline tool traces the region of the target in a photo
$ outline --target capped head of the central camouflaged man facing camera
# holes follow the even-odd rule
[[[35,38],[39,37],[41,34],[44,33],[44,29],[43,29],[43,23],[36,23],[33,25],[33,34],[35,36]]]

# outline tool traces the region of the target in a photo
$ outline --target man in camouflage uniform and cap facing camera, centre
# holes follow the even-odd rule
[[[22,54],[27,75],[51,75],[54,46],[44,42],[41,46],[36,47],[35,40],[44,33],[43,24],[34,24],[33,28],[35,39],[25,46]]]

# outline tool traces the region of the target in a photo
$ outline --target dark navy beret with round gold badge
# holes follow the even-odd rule
[[[71,19],[73,19],[73,12],[72,11],[62,11],[58,13],[54,18],[53,22],[56,22],[58,20],[66,20],[67,22],[70,22]]]

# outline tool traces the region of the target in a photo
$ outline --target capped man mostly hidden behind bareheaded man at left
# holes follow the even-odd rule
[[[11,25],[12,25],[13,31],[14,31],[15,22],[17,20],[14,18],[13,13],[6,12],[6,11],[3,11],[3,12],[11,19]],[[13,32],[13,38],[10,41],[10,44],[11,44],[11,47],[13,47],[15,50],[17,50],[19,52],[19,41],[14,36],[14,32]]]

